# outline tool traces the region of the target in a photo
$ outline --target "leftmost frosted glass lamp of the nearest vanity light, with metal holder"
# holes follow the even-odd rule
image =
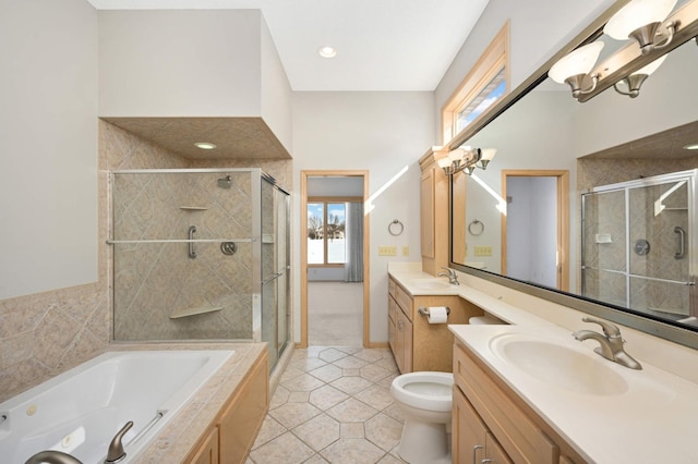
[[[603,45],[602,41],[593,41],[570,51],[553,64],[547,75],[558,84],[569,85],[571,96],[575,99],[593,91],[599,83],[600,74],[589,75],[589,73],[597,63]],[[582,89],[581,85],[588,78],[591,78],[591,87]]]

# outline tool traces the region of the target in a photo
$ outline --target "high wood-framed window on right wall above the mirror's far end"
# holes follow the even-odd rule
[[[446,145],[509,91],[509,23],[494,37],[442,111]]]

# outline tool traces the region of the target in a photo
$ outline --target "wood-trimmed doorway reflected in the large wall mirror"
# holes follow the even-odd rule
[[[503,170],[502,273],[569,289],[569,172]]]

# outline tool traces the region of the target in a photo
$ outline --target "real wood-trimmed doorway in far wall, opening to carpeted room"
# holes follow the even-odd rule
[[[369,340],[368,171],[301,171],[301,340]]]

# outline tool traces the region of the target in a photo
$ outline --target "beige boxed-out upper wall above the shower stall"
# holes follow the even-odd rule
[[[290,150],[290,98],[260,10],[99,12],[101,117],[262,117]]]

